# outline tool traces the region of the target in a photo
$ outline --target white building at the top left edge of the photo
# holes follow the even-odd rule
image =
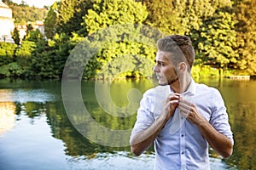
[[[14,42],[11,36],[15,28],[14,21],[12,9],[0,0],[0,42]]]

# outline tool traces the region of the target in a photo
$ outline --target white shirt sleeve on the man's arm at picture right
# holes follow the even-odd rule
[[[212,127],[214,127],[219,133],[223,133],[231,140],[232,144],[234,144],[233,133],[229,123],[229,116],[224,105],[224,99],[215,88],[213,93],[213,104],[212,116],[210,118]]]

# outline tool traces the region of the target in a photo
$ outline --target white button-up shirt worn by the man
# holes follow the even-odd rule
[[[174,93],[170,86],[158,86],[143,94],[131,136],[147,129],[160,116],[163,102],[170,93]],[[181,95],[196,105],[197,111],[212,127],[234,143],[224,100],[216,88],[192,80],[188,90]],[[154,140],[154,150],[155,170],[210,169],[207,140],[178,109]]]

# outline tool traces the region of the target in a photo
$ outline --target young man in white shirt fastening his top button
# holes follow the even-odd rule
[[[155,60],[160,86],[143,94],[131,151],[139,156],[154,142],[155,170],[210,169],[208,144],[224,158],[233,150],[221,94],[192,79],[195,51],[189,37],[161,38]]]

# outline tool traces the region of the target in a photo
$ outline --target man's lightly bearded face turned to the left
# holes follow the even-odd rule
[[[160,85],[167,85],[177,81],[175,67],[167,57],[168,55],[170,53],[158,51],[155,57],[154,73]]]

